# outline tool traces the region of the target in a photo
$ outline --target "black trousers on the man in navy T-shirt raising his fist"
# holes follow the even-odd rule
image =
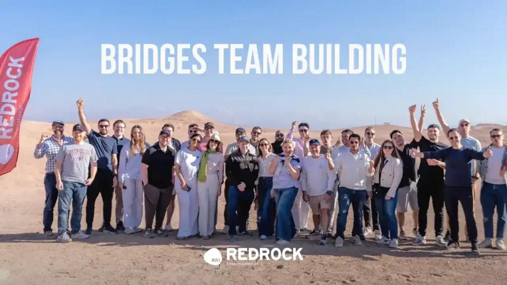
[[[113,207],[113,171],[108,169],[97,169],[95,180],[88,186],[86,191],[86,224],[87,229],[93,227],[95,216],[95,201],[98,194],[102,196],[104,227],[111,226],[111,212]]]

